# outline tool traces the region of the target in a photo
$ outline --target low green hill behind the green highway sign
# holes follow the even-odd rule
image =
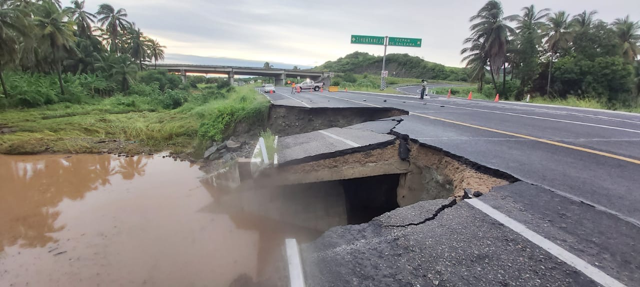
[[[440,81],[468,81],[467,70],[424,61],[408,54],[388,54],[385,68],[389,76]],[[314,70],[337,73],[379,75],[382,68],[382,56],[373,56],[365,52],[353,52],[335,61],[327,61]]]

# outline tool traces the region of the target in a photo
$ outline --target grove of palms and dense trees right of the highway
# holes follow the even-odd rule
[[[640,22],[627,15],[607,23],[596,11],[570,15],[534,5],[521,12],[505,16],[500,1],[491,0],[470,17],[461,54],[479,91],[490,82],[495,93],[516,100],[534,93],[640,105]]]

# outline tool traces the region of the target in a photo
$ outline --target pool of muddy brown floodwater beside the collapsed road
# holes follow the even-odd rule
[[[319,235],[221,212],[201,176],[160,155],[0,155],[0,286],[229,286]]]

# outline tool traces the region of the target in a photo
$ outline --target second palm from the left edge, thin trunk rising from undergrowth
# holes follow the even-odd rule
[[[65,88],[62,82],[62,56],[70,51],[74,51],[73,22],[67,19],[70,16],[68,8],[60,9],[58,5],[50,0],[44,0],[36,10],[33,22],[39,35],[44,39],[44,45],[52,53],[53,63],[58,72],[58,83],[60,84],[60,94],[65,95]]]

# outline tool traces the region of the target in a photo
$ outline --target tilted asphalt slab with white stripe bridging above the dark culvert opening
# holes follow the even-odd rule
[[[396,137],[370,130],[328,128],[278,139],[278,164],[301,164],[394,144]]]

